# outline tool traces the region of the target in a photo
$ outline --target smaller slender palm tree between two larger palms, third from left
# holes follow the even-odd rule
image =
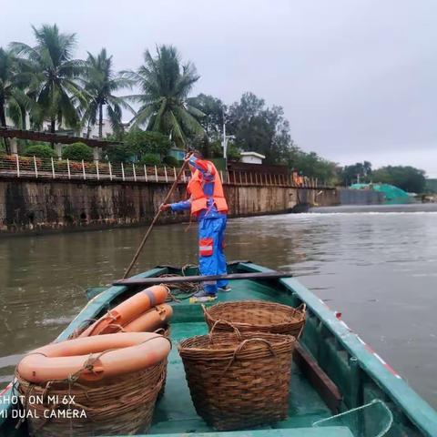
[[[127,108],[133,114],[134,109],[127,104],[126,98],[114,96],[117,90],[132,86],[132,80],[127,77],[116,75],[112,68],[112,56],[107,57],[107,50],[102,48],[97,56],[88,52],[84,70],[84,83],[86,90],[87,107],[84,120],[89,127],[97,123],[98,113],[98,137],[102,138],[103,107],[107,106],[107,117],[114,131],[120,129],[122,107]]]

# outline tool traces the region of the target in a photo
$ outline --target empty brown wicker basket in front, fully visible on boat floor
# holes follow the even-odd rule
[[[217,326],[178,345],[198,415],[219,431],[286,419],[295,338]]]

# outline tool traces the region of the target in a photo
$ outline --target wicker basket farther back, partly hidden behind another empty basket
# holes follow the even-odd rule
[[[209,330],[218,320],[226,320],[239,331],[271,332],[300,338],[305,325],[306,305],[298,308],[263,300],[239,300],[213,305],[202,305]],[[219,321],[218,330],[231,330],[229,323]]]

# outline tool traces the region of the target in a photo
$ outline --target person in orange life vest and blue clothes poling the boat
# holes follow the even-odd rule
[[[219,171],[214,164],[196,151],[186,158],[192,177],[188,182],[188,200],[163,204],[161,210],[174,212],[191,210],[191,216],[198,219],[198,269],[200,275],[227,273],[224,254],[224,234],[227,223],[228,204],[223,194]],[[203,290],[194,297],[210,300],[217,297],[217,291],[229,291],[228,280],[203,282]]]

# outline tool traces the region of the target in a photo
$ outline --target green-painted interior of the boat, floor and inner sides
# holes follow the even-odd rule
[[[260,269],[249,262],[229,264],[229,273],[262,271]],[[189,276],[197,273],[197,268],[194,267],[182,271],[177,267],[160,266],[137,275],[136,278]],[[300,290],[290,286],[292,281],[295,279],[232,280],[232,290],[219,292],[218,300],[207,303],[207,306],[228,300],[269,300],[298,307],[304,300]],[[86,320],[100,317],[144,288],[132,285],[86,290],[88,305],[58,340],[66,340],[75,330],[84,328]],[[302,287],[302,290],[306,289]],[[330,320],[320,318],[320,312],[314,310],[314,307],[320,307],[322,302],[309,290],[306,291],[310,301],[305,300],[307,321],[300,344],[293,355],[288,419],[256,429],[227,432],[227,435],[426,435],[410,421],[391,393],[381,386],[381,381],[372,378],[371,372],[366,371],[362,365],[363,362],[348,350],[341,331],[332,329],[331,325],[338,321],[335,316],[331,315]],[[168,357],[167,384],[164,395],[158,400],[147,435],[170,437],[172,434],[205,433],[213,437],[222,434],[209,427],[195,411],[184,366],[178,355],[178,341],[208,333],[201,305],[190,301],[191,294],[192,290],[172,290],[174,300],[170,304],[174,314],[170,323],[170,338],[173,348]],[[331,323],[331,320],[335,321]],[[16,435],[24,435],[25,427],[21,430]]]

